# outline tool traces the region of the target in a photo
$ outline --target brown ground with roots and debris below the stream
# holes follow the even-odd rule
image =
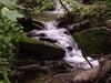
[[[90,70],[70,68],[63,61],[39,66],[18,68],[12,83],[111,83],[111,55],[100,59],[100,65]]]

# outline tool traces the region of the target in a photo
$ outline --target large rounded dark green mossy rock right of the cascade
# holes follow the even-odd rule
[[[73,38],[85,55],[111,53],[111,31],[93,29],[73,33]]]

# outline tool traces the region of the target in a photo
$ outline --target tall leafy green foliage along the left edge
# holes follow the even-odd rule
[[[16,1],[16,0],[14,0]],[[17,22],[21,15],[14,6],[13,0],[0,0],[0,83],[10,83],[7,75],[12,68],[13,55],[17,42],[22,37],[22,27]]]

